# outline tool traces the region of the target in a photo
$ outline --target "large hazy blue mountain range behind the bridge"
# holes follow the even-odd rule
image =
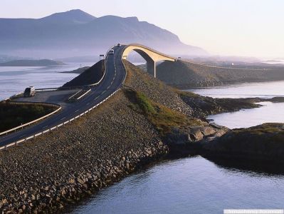
[[[63,58],[103,54],[113,44],[140,43],[167,54],[200,56],[177,35],[137,17],[96,18],[80,10],[41,19],[0,19],[0,54]]]

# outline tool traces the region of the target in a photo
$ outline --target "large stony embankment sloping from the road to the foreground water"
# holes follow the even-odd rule
[[[192,103],[204,102],[202,97],[188,101],[192,93],[186,96],[124,63],[122,91],[102,106],[46,136],[0,151],[1,211],[60,213],[150,161],[199,152],[201,141],[228,132],[204,120],[204,108]],[[218,105],[211,108],[224,108]]]

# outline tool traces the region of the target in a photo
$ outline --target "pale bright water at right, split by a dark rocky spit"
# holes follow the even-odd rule
[[[201,88],[190,90],[203,96],[214,98],[272,98],[284,96],[284,81],[265,83],[244,83],[233,86]],[[284,103],[261,102],[263,107],[241,110],[233,113],[221,113],[209,116],[214,123],[228,128],[247,128],[261,123],[284,123]]]

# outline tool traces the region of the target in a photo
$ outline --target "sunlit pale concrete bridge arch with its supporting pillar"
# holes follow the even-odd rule
[[[156,77],[156,62],[157,61],[176,61],[177,58],[172,56],[167,56],[158,51],[148,48],[147,46],[142,46],[140,44],[129,44],[124,46],[122,51],[122,58],[127,59],[128,54],[131,51],[136,51],[140,56],[144,58],[147,62],[147,72]]]

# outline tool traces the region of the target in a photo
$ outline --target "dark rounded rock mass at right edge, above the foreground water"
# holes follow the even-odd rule
[[[264,123],[228,131],[220,138],[201,142],[203,156],[213,159],[284,163],[284,124]]]

